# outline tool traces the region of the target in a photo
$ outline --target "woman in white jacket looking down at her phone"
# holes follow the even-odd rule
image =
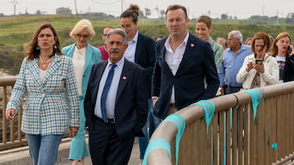
[[[254,35],[251,45],[254,54],[245,57],[244,63],[236,75],[236,81],[243,83],[243,89],[278,84],[278,62],[267,53],[270,43],[268,34],[258,32]]]

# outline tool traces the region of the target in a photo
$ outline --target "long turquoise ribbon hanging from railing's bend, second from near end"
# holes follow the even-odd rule
[[[173,113],[168,115],[168,117],[165,118],[165,120],[163,121],[173,122],[178,127],[178,132],[177,132],[177,135],[175,136],[175,162],[178,165],[180,138],[182,137],[186,127],[185,120],[181,115]]]

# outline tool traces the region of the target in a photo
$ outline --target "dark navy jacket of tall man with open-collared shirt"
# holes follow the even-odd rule
[[[170,95],[175,88],[175,104],[178,110],[191,103],[212,98],[219,88],[219,76],[214,63],[212,47],[208,42],[189,34],[183,59],[173,76],[165,62],[165,41],[156,45],[156,64],[153,72],[152,96],[158,96],[153,113],[164,119],[170,106]],[[207,82],[205,89],[204,80]]]

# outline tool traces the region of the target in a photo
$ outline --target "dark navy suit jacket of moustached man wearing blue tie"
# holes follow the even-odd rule
[[[94,122],[94,108],[100,79],[107,66],[107,60],[94,64],[85,96],[86,127],[89,132]],[[136,136],[143,136],[141,131],[146,123],[148,112],[148,93],[146,71],[134,62],[124,61],[114,108],[115,128],[120,138],[124,139],[131,131]]]

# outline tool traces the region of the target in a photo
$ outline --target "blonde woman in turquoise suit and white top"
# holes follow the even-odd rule
[[[77,136],[72,138],[70,146],[69,159],[72,160],[72,165],[85,164],[85,157],[88,156],[87,145],[85,142],[85,112],[84,99],[89,80],[89,74],[92,65],[101,62],[101,53],[97,47],[89,45],[89,40],[95,35],[92,23],[87,19],[79,21],[70,32],[70,36],[75,39],[75,43],[64,47],[62,52],[72,58],[72,64],[75,70],[77,79],[77,91],[80,96],[80,129]]]

